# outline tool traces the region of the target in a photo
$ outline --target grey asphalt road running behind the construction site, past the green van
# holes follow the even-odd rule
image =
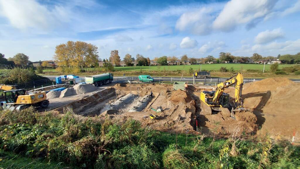
[[[51,76],[51,75],[46,75],[44,77],[47,77],[49,79],[55,80],[56,76]],[[85,76],[79,76],[79,81],[84,81]],[[158,81],[187,81],[190,83],[193,83],[193,78],[192,77],[153,77],[155,82]],[[195,83],[205,83],[205,84],[218,84],[222,81],[225,81],[227,78],[195,78]],[[128,80],[130,81],[135,81],[138,80],[138,76],[114,76],[114,82],[127,82]],[[253,82],[253,81],[259,81],[262,80],[262,78],[255,78],[255,79],[250,79],[250,78],[244,78],[244,83],[248,82]],[[294,82],[300,82],[300,79],[291,79]]]

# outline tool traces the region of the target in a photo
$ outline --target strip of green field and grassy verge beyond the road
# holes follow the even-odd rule
[[[279,69],[284,67],[290,67],[294,65],[279,65]],[[286,78],[300,78],[300,75],[295,75],[295,73],[288,73],[287,75],[275,75],[270,72],[270,65],[265,65],[265,72],[263,72],[263,64],[205,64],[201,66],[201,70],[206,70],[211,72],[212,77],[230,77],[232,73],[230,72],[220,72],[221,67],[226,67],[234,69],[234,72],[242,72],[245,78],[268,78],[268,77],[286,77]],[[192,68],[193,72],[199,71],[200,65],[178,65],[178,66],[129,66],[129,67],[115,67],[114,75],[140,75],[148,74],[151,76],[181,76],[191,77],[192,73],[188,73],[188,70]],[[76,73],[76,75],[95,75],[101,72],[107,72],[104,69],[99,68],[87,68],[87,72]],[[47,75],[60,75],[56,69],[45,69],[44,74]]]

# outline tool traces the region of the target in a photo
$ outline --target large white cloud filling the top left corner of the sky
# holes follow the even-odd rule
[[[0,15],[18,29],[54,29],[57,24],[69,20],[67,9],[54,6],[49,10],[34,0],[0,0]]]

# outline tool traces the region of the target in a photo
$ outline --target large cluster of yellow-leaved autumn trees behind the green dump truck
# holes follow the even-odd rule
[[[96,66],[98,63],[98,47],[82,41],[67,41],[57,45],[53,59],[58,66],[71,70]]]

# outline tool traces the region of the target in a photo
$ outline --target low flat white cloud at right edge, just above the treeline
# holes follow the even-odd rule
[[[300,39],[295,41],[272,42],[267,45],[253,45],[253,52],[269,53],[272,51],[283,51],[288,53],[298,52],[300,48]]]

